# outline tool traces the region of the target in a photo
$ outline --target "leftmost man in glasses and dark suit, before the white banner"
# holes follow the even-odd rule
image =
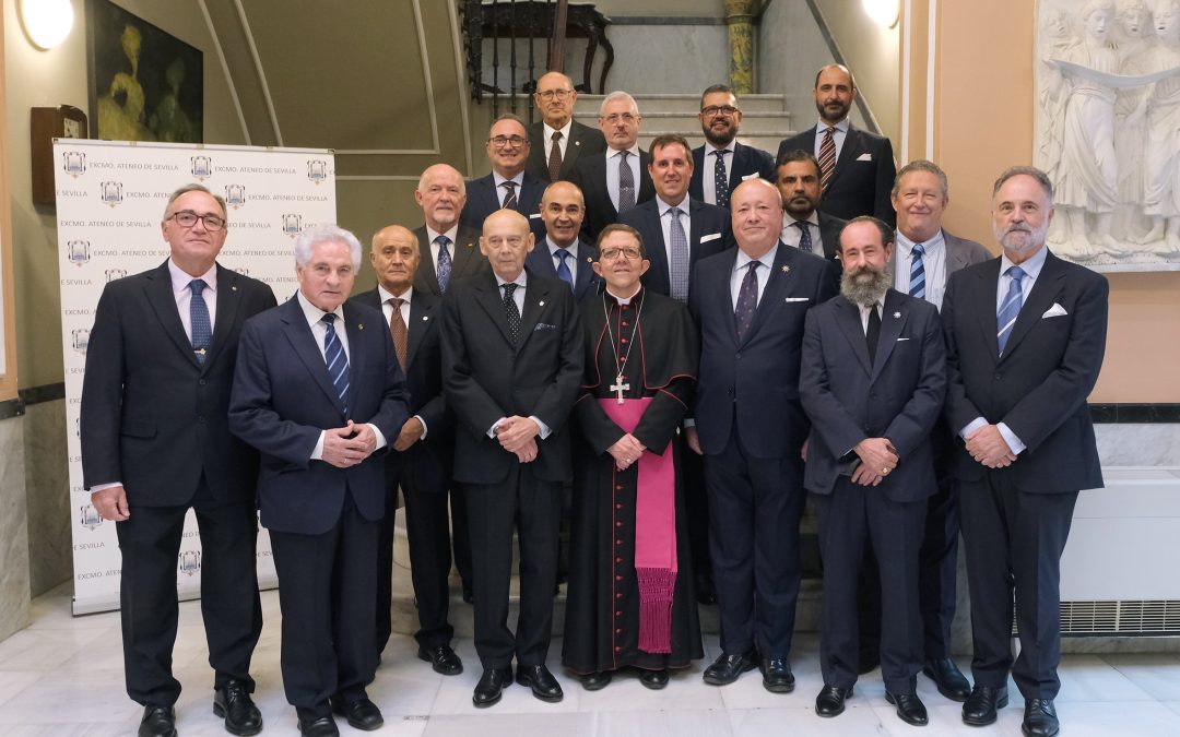
[[[168,261],[106,285],[86,351],[83,475],[119,537],[124,667],[127,696],[144,705],[139,737],[176,733],[176,558],[190,507],[204,550],[214,711],[230,733],[262,730],[250,700],[262,632],[258,455],[229,434],[227,413],[242,323],[275,296],[217,263],[228,226],[221,197],[198,184],[172,192],[160,223]]]

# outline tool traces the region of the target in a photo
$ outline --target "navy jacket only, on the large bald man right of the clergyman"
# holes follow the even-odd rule
[[[701,327],[695,420],[701,448],[725,450],[734,416],[754,458],[799,456],[811,423],[799,403],[799,357],[807,310],[837,292],[826,261],[779,243],[754,320],[739,342],[729,295],[738,249],[701,262],[688,307]]]

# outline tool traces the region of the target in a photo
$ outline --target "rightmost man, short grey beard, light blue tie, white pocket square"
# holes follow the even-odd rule
[[[1011,672],[1023,732],[1048,737],[1060,729],[1061,552],[1077,492],[1102,487],[1086,400],[1102,368],[1109,285],[1045,248],[1053,185],[1041,170],[1001,175],[991,216],[1003,254],[951,275],[942,309],[971,588],[975,687],[963,722],[996,720]]]

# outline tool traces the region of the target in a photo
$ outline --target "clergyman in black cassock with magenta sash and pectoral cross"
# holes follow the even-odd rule
[[[688,309],[643,289],[640,233],[610,225],[581,305],[586,375],[573,412],[585,436],[573,487],[562,663],[590,691],[632,666],[649,689],[703,657],[683,488],[673,442],[696,383]],[[629,430],[629,432],[628,432]]]

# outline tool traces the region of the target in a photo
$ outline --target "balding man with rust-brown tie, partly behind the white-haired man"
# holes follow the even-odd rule
[[[418,657],[444,676],[463,672],[451,649],[454,627],[447,621],[451,574],[451,524],[447,489],[454,455],[454,415],[442,396],[441,300],[413,288],[421,255],[418,239],[401,225],[373,236],[369,262],[376,288],[353,297],[381,310],[393,336],[398,363],[409,389],[409,419],[391,439],[385,459],[385,518],[378,550],[376,653],[389,641],[393,595],[394,513],[398,488],[406,500],[409,574],[418,607]]]

